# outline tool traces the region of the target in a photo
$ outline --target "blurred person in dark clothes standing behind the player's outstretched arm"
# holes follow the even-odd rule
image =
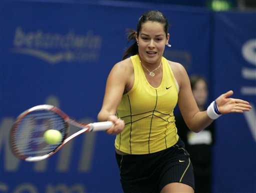
[[[190,76],[190,85],[200,111],[206,110],[208,84],[201,75]],[[192,132],[182,115],[175,116],[178,135],[185,143],[194,169],[195,193],[211,192],[211,146],[214,141],[214,122],[200,132]]]

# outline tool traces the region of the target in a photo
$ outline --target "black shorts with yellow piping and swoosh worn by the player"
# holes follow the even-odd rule
[[[171,182],[181,182],[194,189],[192,164],[181,139],[175,145],[155,153],[115,155],[125,193],[160,192]]]

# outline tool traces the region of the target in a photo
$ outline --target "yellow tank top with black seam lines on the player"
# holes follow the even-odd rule
[[[117,117],[124,120],[123,131],[116,135],[115,148],[129,154],[147,154],[166,149],[178,140],[173,109],[178,88],[167,59],[162,57],[162,80],[152,87],[143,72],[138,55],[130,57],[134,84],[123,94]]]

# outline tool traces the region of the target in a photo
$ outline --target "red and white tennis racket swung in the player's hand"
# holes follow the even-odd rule
[[[68,125],[81,128],[68,136]],[[66,115],[56,106],[42,104],[31,107],[18,115],[10,132],[10,146],[13,154],[25,161],[39,161],[57,152],[65,143],[87,131],[106,130],[111,121],[85,124]],[[61,135],[61,142],[49,144],[43,134],[48,129],[56,129]]]

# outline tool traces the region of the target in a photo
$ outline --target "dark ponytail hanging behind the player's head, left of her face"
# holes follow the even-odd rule
[[[133,29],[127,29],[127,38],[128,41],[133,40],[133,44],[131,46],[129,46],[123,53],[122,55],[122,60],[127,58],[130,55],[135,55],[138,53],[138,45],[136,42],[136,31]]]

